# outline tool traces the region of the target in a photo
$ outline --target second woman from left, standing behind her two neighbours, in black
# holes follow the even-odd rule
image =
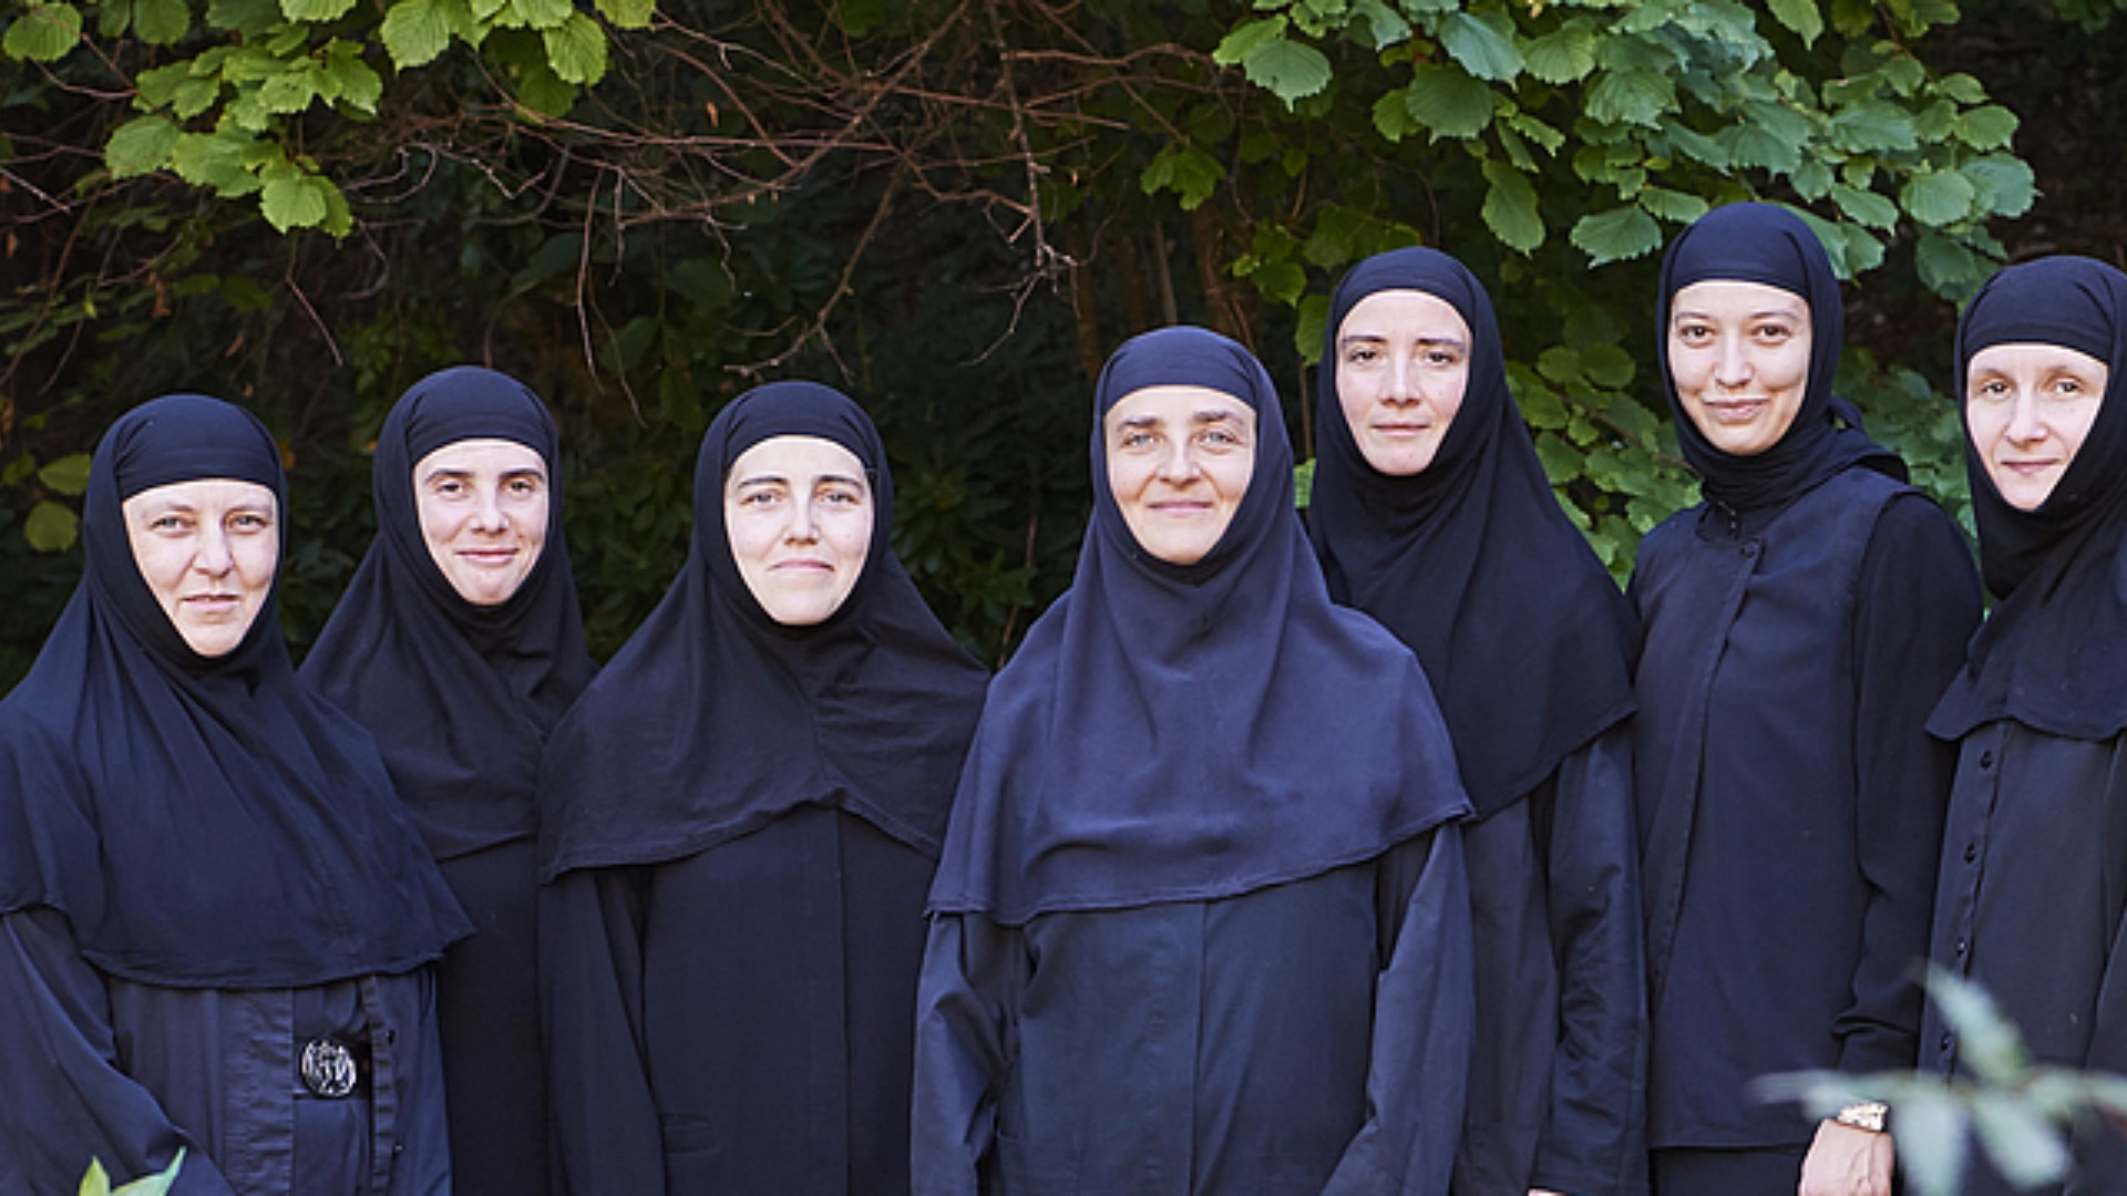
[[[474,366],[376,436],[376,541],[302,679],[370,730],[476,934],[436,973],[459,1196],[547,1192],[534,787],[589,683],[553,417]]]

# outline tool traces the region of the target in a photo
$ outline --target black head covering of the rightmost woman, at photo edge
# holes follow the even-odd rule
[[[1995,275],[1957,326],[1965,370],[1991,345],[2061,345],[2110,370],[2089,436],[2036,511],[2010,506],[1965,423],[1980,566],[1999,602],[1927,730],[1957,738],[2010,717],[2072,738],[2127,730],[2127,275],[2091,258],[2040,258]]]

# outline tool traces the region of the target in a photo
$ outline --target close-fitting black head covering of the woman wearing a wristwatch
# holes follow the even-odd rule
[[[1691,283],[1734,281],[1780,287],[1810,304],[1810,381],[1795,421],[1763,453],[1734,455],[1712,447],[1676,398],[1670,377],[1670,302]],[[1661,385],[1676,415],[1676,443],[1702,479],[1706,498],[1731,511],[1765,511],[1793,502],[1850,464],[1870,464],[1904,481],[1906,468],[1861,432],[1861,413],[1833,398],[1831,379],[1846,345],[1846,304],[1825,247],[1802,217],[1772,204],[1727,204],[1676,234],[1661,258],[1661,300],[1655,313]]]

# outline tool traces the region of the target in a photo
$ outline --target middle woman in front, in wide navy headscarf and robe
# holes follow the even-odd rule
[[[1425,672],[1329,602],[1246,349],[1146,332],[1093,415],[932,887],[915,1187],[1444,1194],[1468,802]]]

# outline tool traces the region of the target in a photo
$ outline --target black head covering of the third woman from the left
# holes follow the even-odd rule
[[[872,485],[864,572],[804,628],[753,598],[723,526],[725,475],[774,436],[832,441]],[[938,626],[891,528],[893,477],[864,409],[815,383],[732,400],[702,436],[687,566],[547,749],[542,875],[679,860],[800,804],[936,856],[985,672]]]

